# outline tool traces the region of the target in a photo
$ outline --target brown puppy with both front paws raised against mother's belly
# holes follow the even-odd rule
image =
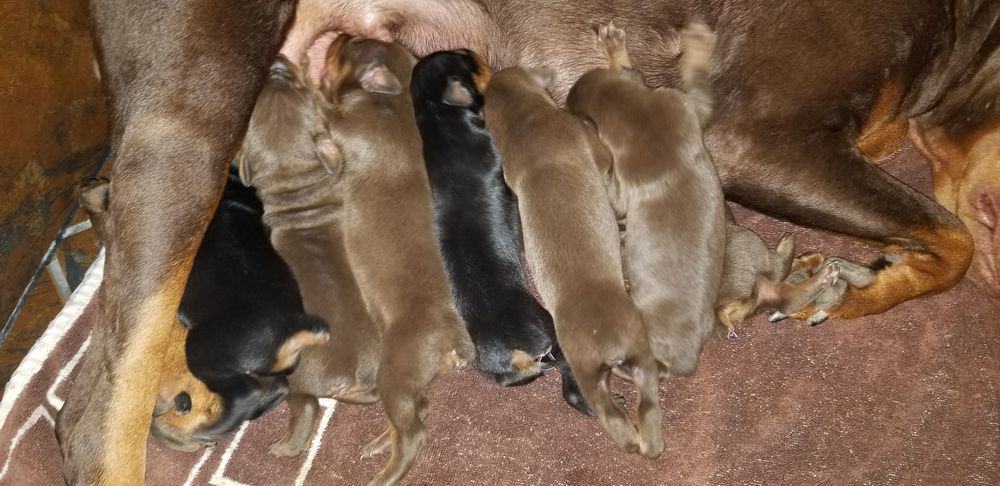
[[[702,126],[711,112],[708,63],[714,34],[704,25],[682,32],[687,93],[651,89],[632,68],[625,34],[601,28],[598,44],[610,69],[584,74],[567,105],[613,155],[608,189],[625,220],[625,269],[662,374],[695,370],[716,322],[725,256],[722,188]]]

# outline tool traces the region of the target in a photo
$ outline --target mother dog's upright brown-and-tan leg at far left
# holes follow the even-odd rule
[[[292,1],[93,0],[111,95],[99,321],[59,417],[71,484],[140,484],[169,331]]]

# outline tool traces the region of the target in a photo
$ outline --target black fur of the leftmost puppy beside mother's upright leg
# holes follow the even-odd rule
[[[199,431],[204,440],[281,403],[292,369],[272,371],[278,349],[299,331],[328,332],[322,319],[305,314],[263,214],[255,191],[230,172],[181,298],[188,367],[224,404],[220,419]]]

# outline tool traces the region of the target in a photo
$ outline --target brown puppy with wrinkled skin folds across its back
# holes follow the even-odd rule
[[[379,333],[347,262],[343,171],[336,165],[326,109],[298,66],[279,56],[237,156],[240,178],[257,188],[271,242],[295,274],[306,312],[330,327],[330,341],[303,350],[289,376],[289,427],[271,447],[279,456],[297,455],[309,445],[319,418],[317,397],[378,399]]]

